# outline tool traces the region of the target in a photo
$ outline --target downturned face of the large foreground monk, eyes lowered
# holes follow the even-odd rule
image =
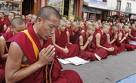
[[[39,36],[47,40],[55,33],[55,29],[59,26],[60,19],[54,15],[51,15],[49,19],[41,19],[40,28],[38,30]]]

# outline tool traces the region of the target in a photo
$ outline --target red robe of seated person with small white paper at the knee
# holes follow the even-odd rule
[[[81,36],[83,37],[83,43],[85,44],[87,41],[87,36],[85,32],[82,33]],[[86,59],[86,60],[91,60],[91,61],[96,60],[96,57],[94,55],[94,50],[89,48],[89,45],[86,47],[85,50],[80,50],[79,57]]]

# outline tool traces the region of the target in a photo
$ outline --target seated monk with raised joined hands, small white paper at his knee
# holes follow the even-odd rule
[[[84,33],[81,33],[79,36],[79,47],[80,53],[79,56],[83,59],[94,61],[97,59],[97,55],[95,51],[90,48],[93,39],[93,33],[95,28],[90,22],[87,23],[87,30]],[[96,57],[97,56],[97,57]],[[100,60],[100,57],[98,58]]]

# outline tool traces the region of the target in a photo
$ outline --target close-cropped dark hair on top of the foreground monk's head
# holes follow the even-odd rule
[[[44,6],[40,9],[37,17],[42,17],[44,19],[49,19],[51,15],[56,16],[57,18],[61,19],[61,15],[59,12],[51,6]]]

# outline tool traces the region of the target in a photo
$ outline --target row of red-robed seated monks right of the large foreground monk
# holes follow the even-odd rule
[[[59,58],[78,56],[94,61],[136,49],[136,24],[66,22],[56,29],[53,45]]]

